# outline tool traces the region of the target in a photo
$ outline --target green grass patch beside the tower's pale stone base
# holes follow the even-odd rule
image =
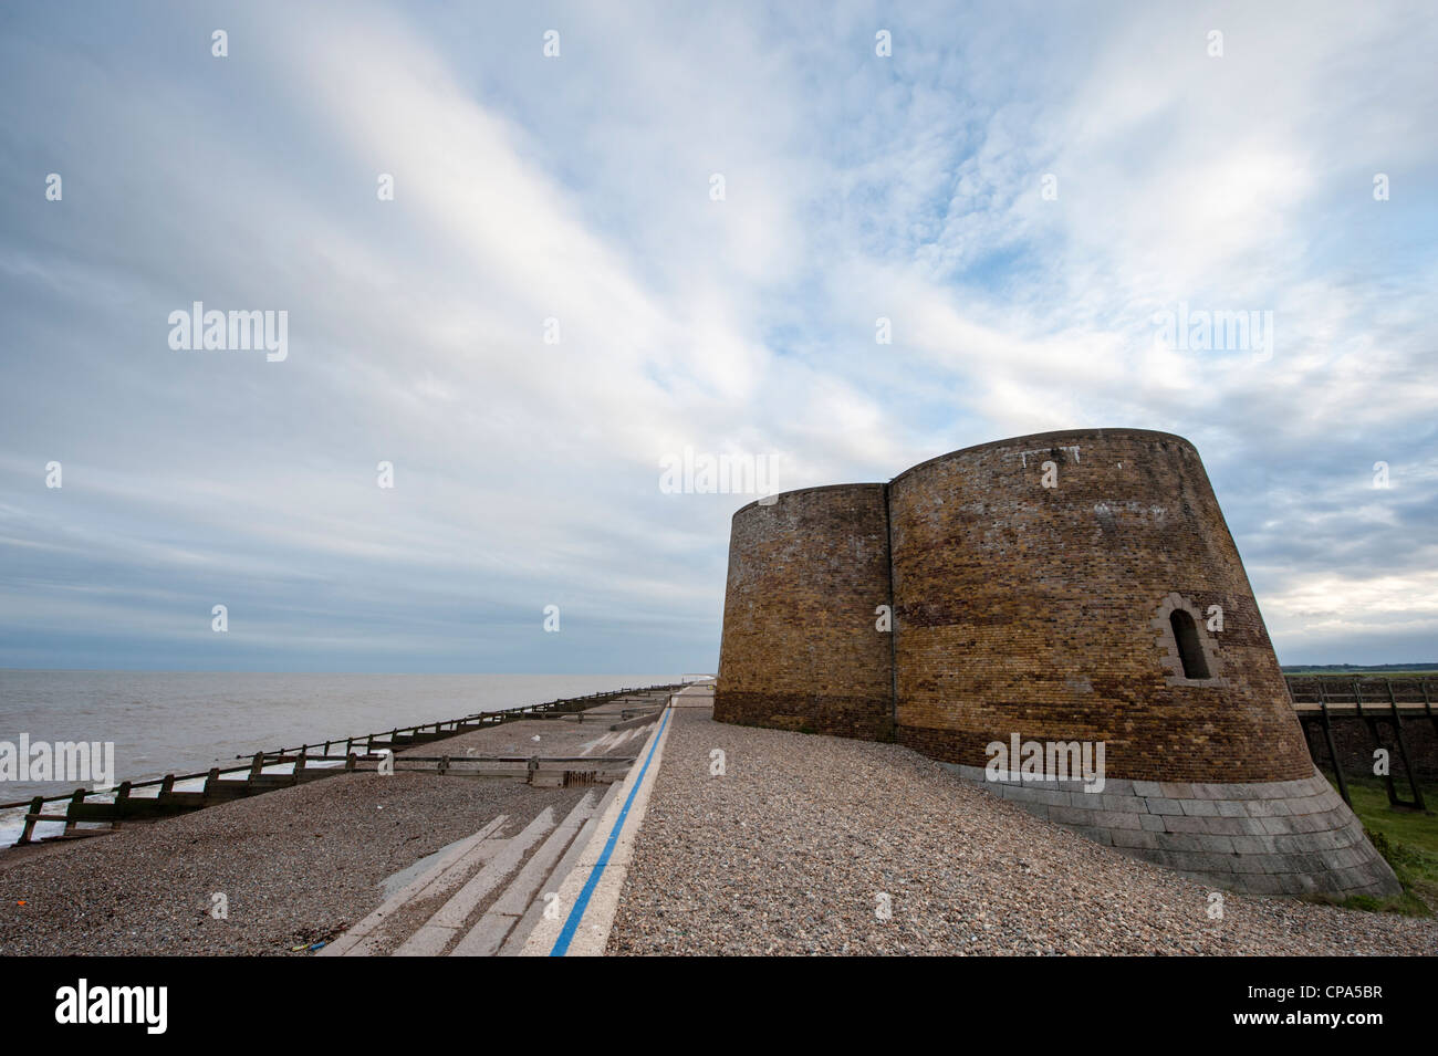
[[[1353,813],[1363,822],[1363,829],[1378,852],[1393,866],[1403,885],[1403,894],[1391,898],[1352,895],[1319,901],[1369,912],[1432,917],[1434,907],[1438,907],[1438,815],[1431,810],[1395,810],[1388,802],[1388,789],[1380,779],[1347,777],[1347,774],[1345,777],[1349,796],[1353,797]],[[1329,780],[1332,783],[1333,779]],[[1432,795],[1428,790],[1425,793]],[[1398,795],[1405,795],[1402,782]]]

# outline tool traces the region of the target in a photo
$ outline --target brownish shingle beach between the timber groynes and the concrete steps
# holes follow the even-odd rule
[[[505,746],[525,736],[523,726],[584,728],[587,740],[607,730],[513,723],[416,751],[473,743],[509,754]],[[568,754],[539,734],[545,747],[535,754]],[[505,832],[513,833],[545,806],[562,818],[584,793],[508,779],[357,773],[114,835],[22,848],[0,855],[0,954],[288,954],[344,931],[383,901],[387,876],[496,815],[509,815]],[[216,892],[229,899],[229,920],[210,917]]]

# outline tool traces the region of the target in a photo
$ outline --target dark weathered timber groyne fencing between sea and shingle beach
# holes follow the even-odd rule
[[[29,800],[0,803],[0,809],[29,807],[24,829],[14,846],[33,842],[35,826],[42,822],[63,822],[65,833],[53,839],[76,839],[111,832],[125,820],[157,820],[201,810],[234,799],[259,796],[275,789],[288,789],[305,782],[334,777],[357,770],[390,767],[394,772],[427,772],[439,776],[515,777],[532,784],[569,786],[597,784],[615,780],[627,772],[633,759],[605,757],[541,757],[541,756],[397,756],[401,749],[454,737],[470,730],[483,730],[526,718],[569,718],[582,721],[582,713],[605,704],[661,704],[682,682],[592,693],[587,697],[564,697],[544,704],[529,704],[505,711],[476,711],[462,718],[417,726],[394,727],[387,731],[357,737],[332,738],[324,743],[299,744],[275,751],[257,751],[249,761],[232,767],[213,767],[203,773],[165,774],[147,782],[122,782],[109,792],[75,789],[59,796],[35,796]],[[656,697],[659,700],[656,700]],[[638,708],[623,708],[626,718]],[[614,713],[608,713],[614,714]],[[338,749],[342,746],[342,751]],[[236,759],[243,759],[237,756]],[[265,773],[266,767],[289,766],[289,773]],[[342,766],[339,766],[342,764]],[[244,774],[234,777],[234,774]],[[204,779],[198,790],[177,790],[183,782]],[[137,796],[137,789],[157,789],[155,795]],[[65,803],[46,812],[46,805]],[[79,829],[82,822],[109,823],[109,829]]]

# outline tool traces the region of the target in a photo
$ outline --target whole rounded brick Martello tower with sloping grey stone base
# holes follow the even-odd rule
[[[1398,888],[1314,770],[1238,550],[1182,437],[1018,437],[887,484],[745,506],[715,717],[893,738],[1051,820],[1225,886]],[[994,780],[988,746],[1015,734],[1102,743],[1103,795]]]

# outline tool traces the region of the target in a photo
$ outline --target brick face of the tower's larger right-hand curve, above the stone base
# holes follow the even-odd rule
[[[1044,487],[1045,463],[1057,474]],[[1296,780],[1311,760],[1194,447],[1090,430],[956,451],[890,486],[899,740],[1106,743],[1110,777]],[[1205,629],[1209,606],[1224,629]],[[1168,612],[1214,677],[1182,678]]]

